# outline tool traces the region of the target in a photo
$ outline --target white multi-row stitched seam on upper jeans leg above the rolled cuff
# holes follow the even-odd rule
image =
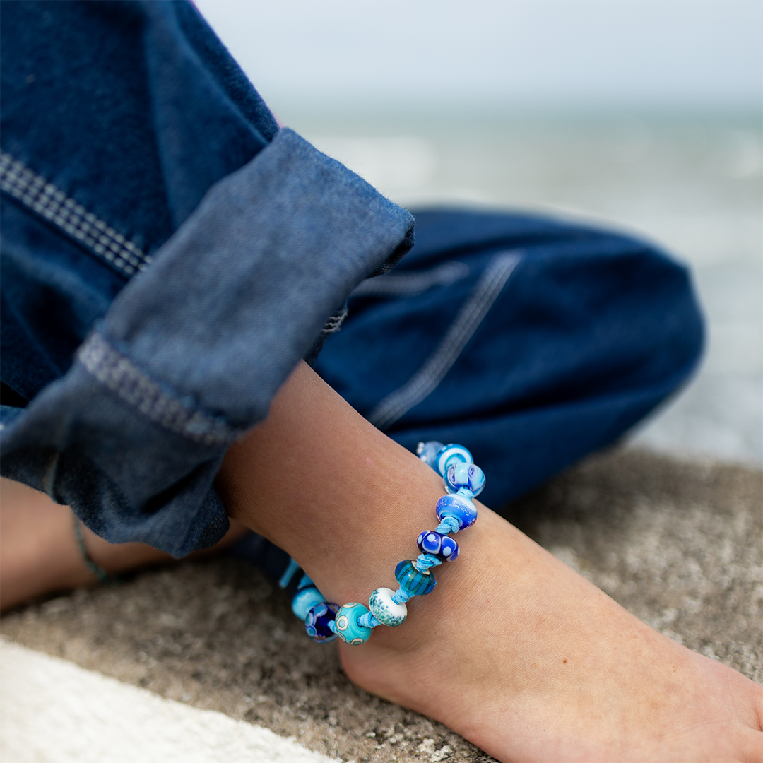
[[[134,275],[139,270],[146,269],[151,262],[151,256],[144,253],[140,246],[109,227],[82,204],[77,204],[42,175],[35,175],[31,169],[2,149],[0,191],[18,199],[21,204],[126,275]]]

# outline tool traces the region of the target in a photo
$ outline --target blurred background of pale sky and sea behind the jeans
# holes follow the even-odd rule
[[[700,371],[633,443],[763,466],[759,0],[195,0],[276,117],[411,208],[583,218],[687,262]]]

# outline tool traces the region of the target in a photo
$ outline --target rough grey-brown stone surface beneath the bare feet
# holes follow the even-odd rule
[[[520,529],[673,639],[763,679],[763,473],[633,450],[588,459],[507,507]],[[350,761],[489,761],[360,691],[258,571],[146,571],[0,618],[0,635]]]

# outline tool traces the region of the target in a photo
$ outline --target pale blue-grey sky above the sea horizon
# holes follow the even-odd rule
[[[196,0],[271,104],[763,109],[763,0]]]

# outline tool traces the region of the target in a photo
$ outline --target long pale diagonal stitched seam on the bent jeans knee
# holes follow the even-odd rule
[[[371,411],[368,418],[375,427],[380,430],[391,427],[443,381],[501,294],[519,261],[520,256],[516,252],[504,252],[492,259],[434,352],[402,387],[388,394]]]

